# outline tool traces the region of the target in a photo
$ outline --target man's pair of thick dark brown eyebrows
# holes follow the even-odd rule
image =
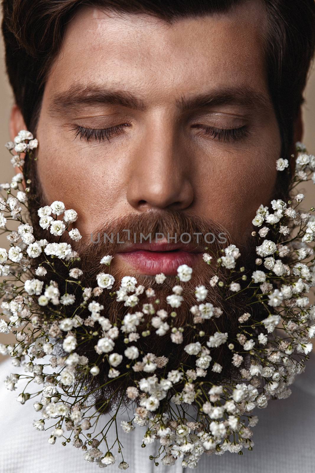
[[[266,109],[271,106],[268,96],[248,87],[211,90],[192,97],[181,96],[176,99],[175,104],[182,111],[215,105],[236,105],[250,109]],[[95,86],[84,87],[80,84],[55,94],[49,110],[52,114],[67,114],[84,105],[120,105],[134,110],[146,110],[145,101],[132,92]]]

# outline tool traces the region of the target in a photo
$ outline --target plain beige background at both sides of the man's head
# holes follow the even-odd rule
[[[305,133],[303,142],[309,152],[315,154],[315,68],[312,68],[308,85],[306,88],[306,103],[303,106]],[[9,160],[9,152],[4,148],[4,144],[9,141],[9,114],[13,104],[13,95],[5,73],[4,47],[2,37],[0,38],[0,182],[7,182],[13,175],[12,165]],[[307,206],[314,205],[315,187],[314,184],[306,184],[304,189],[307,193]],[[308,208],[309,208],[308,207]],[[0,247],[7,247],[7,240],[0,236]],[[0,342],[7,342],[8,337],[0,334]],[[5,340],[4,340],[5,338]],[[3,357],[0,356],[0,361]]]

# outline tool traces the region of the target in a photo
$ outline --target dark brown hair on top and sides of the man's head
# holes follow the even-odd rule
[[[268,85],[282,140],[292,152],[294,122],[315,48],[314,0],[260,0],[268,22],[265,60]],[[82,5],[146,13],[171,22],[187,16],[222,14],[244,0],[3,0],[6,65],[26,126],[35,131],[51,61],[68,21]]]

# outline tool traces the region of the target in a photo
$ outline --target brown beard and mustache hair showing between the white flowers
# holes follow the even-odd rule
[[[43,206],[43,201],[39,201],[40,206]],[[32,207],[31,207],[32,208]],[[43,230],[38,225],[38,217],[33,215],[32,224],[34,227],[34,236],[38,239],[46,238],[49,242],[55,242],[56,237],[52,236],[47,230]],[[233,341],[235,349],[238,350],[240,346],[237,342],[237,333],[238,333],[238,317],[242,314],[249,311],[247,307],[247,301],[249,296],[250,289],[244,289],[239,293],[229,293],[224,288],[220,288],[218,285],[213,286],[211,284],[211,279],[216,275],[219,281],[224,282],[225,285],[232,282],[232,277],[230,270],[227,270],[224,267],[216,267],[214,265],[208,265],[204,263],[201,259],[201,264],[198,265],[197,271],[193,271],[192,277],[189,281],[180,283],[179,279],[176,276],[167,276],[163,284],[158,284],[153,275],[146,274],[136,274],[132,273],[129,270],[128,274],[123,272],[119,265],[115,265],[115,255],[121,250],[121,245],[113,239],[99,239],[99,242],[94,243],[98,240],[96,235],[118,235],[123,234],[123,229],[128,228],[131,235],[136,235],[137,239],[133,239],[133,243],[138,243],[138,238],[140,233],[144,235],[152,234],[156,235],[159,233],[168,234],[170,237],[176,235],[181,235],[183,233],[188,233],[192,236],[191,244],[194,244],[200,247],[200,239],[197,241],[197,234],[205,235],[211,232],[215,238],[211,245],[207,245],[204,248],[204,251],[210,255],[213,255],[213,261],[216,261],[216,257],[221,255],[221,252],[224,253],[224,248],[230,245],[230,236],[228,232],[221,227],[221,225],[216,222],[205,220],[196,215],[188,215],[181,212],[163,210],[162,212],[146,212],[140,215],[130,214],[124,218],[113,219],[106,224],[101,225],[94,231],[94,237],[91,238],[90,242],[78,243],[70,240],[65,233],[62,237],[63,241],[66,241],[71,244],[72,248],[75,249],[79,256],[79,261],[77,261],[75,266],[83,271],[82,276],[80,276],[81,287],[84,288],[95,288],[96,286],[96,276],[100,272],[104,272],[104,265],[100,263],[104,255],[113,256],[113,264],[108,268],[111,275],[115,278],[115,283],[111,290],[105,289],[102,290],[96,287],[92,291],[92,297],[90,301],[95,300],[103,306],[102,315],[109,319],[111,324],[117,324],[119,327],[124,316],[128,313],[135,313],[136,311],[143,310],[144,303],[152,303],[154,306],[155,313],[158,310],[165,310],[167,312],[167,322],[170,328],[167,332],[160,336],[156,333],[155,329],[152,327],[151,320],[154,314],[145,313],[143,321],[139,324],[136,331],[139,334],[146,332],[146,336],[140,336],[136,341],[129,343],[129,345],[135,345],[139,350],[139,353],[145,356],[148,353],[152,353],[155,356],[156,363],[158,368],[155,370],[155,373],[158,376],[163,376],[165,368],[163,363],[167,359],[166,368],[168,371],[178,369],[179,366],[185,367],[185,369],[191,369],[192,373],[196,365],[194,362],[194,357],[188,355],[184,351],[184,347],[192,342],[200,342],[203,346],[206,346],[206,341],[209,335],[212,335],[215,332],[229,333],[229,340]],[[226,242],[223,244],[219,235],[225,234]],[[174,241],[174,240],[171,240]],[[238,263],[240,266],[244,265],[246,267],[246,272],[250,273],[254,270],[255,267],[255,239],[251,238],[242,246],[242,254],[245,256],[240,256]],[[246,262],[245,262],[246,259]],[[38,260],[38,258],[37,258]],[[73,266],[72,266],[73,267]],[[246,274],[244,272],[244,274]],[[137,286],[143,285],[145,289],[152,289],[154,291],[154,296],[149,298],[146,297],[146,294],[139,295],[139,301],[136,307],[126,307],[124,301],[119,301],[115,298],[115,291],[119,290],[119,282],[124,276],[134,276],[137,281]],[[44,285],[48,285],[51,280],[57,282],[60,295],[67,292],[67,286],[65,280],[69,278],[68,275],[68,266],[64,264],[63,261],[54,259],[54,271],[50,271],[47,267],[47,274],[40,278],[44,281]],[[242,284],[242,281],[240,281]],[[181,286],[184,288],[185,293],[183,294],[183,301],[180,307],[170,308],[166,302],[166,297],[172,294],[172,289],[174,286]],[[218,317],[213,317],[209,320],[204,320],[200,315],[194,315],[191,311],[191,307],[196,307],[200,302],[196,301],[195,290],[197,286],[203,285],[207,289],[207,297],[203,300],[203,303],[210,302],[213,304],[213,307],[216,307],[218,314],[221,315]],[[82,298],[82,289],[77,286],[77,289],[74,289],[72,293],[76,297],[77,306],[79,306],[80,298]],[[252,306],[252,307],[255,307]],[[49,319],[49,310],[43,307],[43,313]],[[63,317],[72,317],[73,316],[73,306],[63,307]],[[253,308],[250,309],[251,315],[254,315]],[[83,342],[78,344],[76,352],[79,356],[86,356],[89,359],[89,363],[95,364],[100,368],[100,373],[97,377],[90,377],[89,383],[93,388],[94,402],[99,412],[105,413],[109,409],[113,408],[114,405],[117,405],[118,402],[121,402],[122,394],[126,392],[127,387],[131,384],[130,379],[130,367],[120,368],[119,371],[121,375],[126,375],[119,377],[119,379],[112,379],[110,384],[106,384],[109,374],[109,363],[107,363],[106,357],[103,356],[100,362],[100,355],[95,351],[95,345],[97,340],[102,337],[102,327],[98,322],[91,321],[90,312],[85,307],[80,310],[80,316],[85,320],[85,327],[77,327],[73,329],[76,331],[77,340],[85,339]],[[257,317],[264,318],[265,314],[255,315]],[[61,318],[61,320],[62,320]],[[182,332],[182,342],[174,343],[171,342],[171,330],[175,327],[176,329],[181,330],[182,327],[185,329]],[[54,333],[56,329],[56,324],[52,324],[52,331]],[[86,330],[91,334],[89,340],[86,339]],[[196,331],[199,331],[199,337],[196,339]],[[92,335],[94,334],[94,335]],[[115,339],[115,352],[123,354],[126,350],[128,344],[124,339],[117,338]],[[60,349],[60,355],[62,355],[62,350]],[[104,354],[102,354],[104,355]],[[213,372],[208,370],[204,376],[205,381],[211,381],[213,384],[219,384],[223,381],[230,382],[231,379],[239,378],[239,370],[233,367],[232,360],[233,353],[228,347],[228,343],[224,343],[220,347],[212,350],[213,362],[216,362],[221,365],[221,372]],[[161,365],[161,366],[160,366]],[[193,375],[192,375],[193,376]],[[143,377],[142,371],[134,371],[131,374],[132,380],[140,380]],[[126,404],[128,400],[126,399]]]

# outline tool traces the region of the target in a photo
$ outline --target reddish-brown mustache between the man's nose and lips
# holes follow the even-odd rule
[[[188,244],[183,244],[183,241],[182,247],[187,246],[189,251],[192,247],[198,247],[199,251],[215,256],[231,242],[228,231],[213,220],[175,210],[149,210],[141,214],[128,214],[108,220],[94,230],[88,241],[79,243],[75,249],[81,257],[82,269],[89,274],[89,277],[94,278],[98,272],[104,271],[104,266],[101,267],[100,264],[101,258],[107,254],[114,256],[126,246],[119,242],[124,241],[129,246],[142,243],[147,245],[148,240],[144,240],[143,236],[148,235],[152,236],[152,243],[155,243],[155,236],[159,235],[160,239],[160,236],[163,235],[165,238],[169,238],[171,244],[175,243],[175,236],[179,244],[181,236],[185,237],[185,242],[189,237],[189,248]],[[205,236],[206,239],[204,239]],[[205,274],[209,275],[209,270],[209,266],[204,264]],[[114,267],[111,267],[111,274],[115,279],[116,276],[122,276],[116,273]],[[205,274],[199,274],[200,282]],[[144,275],[141,279],[146,284],[150,283],[151,286],[155,286],[154,277]],[[170,279],[176,283],[174,278]]]

